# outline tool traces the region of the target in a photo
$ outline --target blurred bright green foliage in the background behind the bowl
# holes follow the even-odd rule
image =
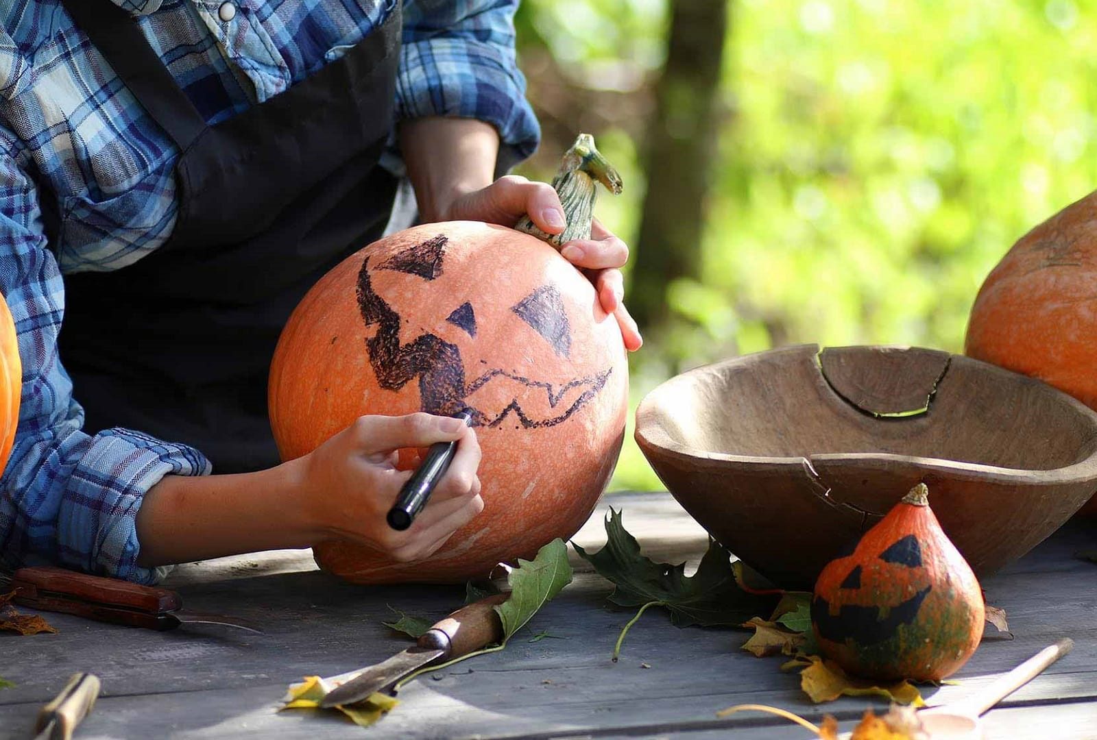
[[[691,144],[688,121],[656,115],[689,102],[690,77],[658,87],[671,0],[523,0],[517,18],[545,130],[521,171],[550,179],[592,133],[625,181],[596,213],[630,269],[645,250],[698,259],[666,275],[669,312],[643,327],[633,409],[676,373],[789,343],[962,351],[991,267],[1097,183],[1097,3],[672,1],[726,19],[691,243],[640,234],[660,207],[648,183],[670,169],[645,156],[653,126]],[[660,488],[631,433],[613,488]]]

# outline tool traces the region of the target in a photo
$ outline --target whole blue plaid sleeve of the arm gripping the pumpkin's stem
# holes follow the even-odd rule
[[[518,159],[541,129],[525,100],[514,52],[517,0],[408,0],[396,79],[399,118],[477,118],[499,132]]]

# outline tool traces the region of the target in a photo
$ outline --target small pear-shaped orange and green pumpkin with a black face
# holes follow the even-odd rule
[[[939,681],[983,636],[975,573],[919,483],[819,573],[812,627],[823,653],[856,675]]]

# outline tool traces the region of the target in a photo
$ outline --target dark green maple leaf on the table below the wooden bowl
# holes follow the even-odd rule
[[[744,591],[735,580],[731,553],[710,539],[697,572],[686,576],[686,563],[677,566],[655,562],[640,553],[640,543],[625,531],[621,513],[610,508],[606,517],[606,546],[595,554],[572,543],[575,551],[595,567],[598,574],[614,584],[609,595],[618,606],[640,606],[636,616],[625,625],[613,651],[620,653],[629,628],[651,606],[670,612],[670,621],[679,627],[738,627],[756,614],[772,608],[774,599]]]

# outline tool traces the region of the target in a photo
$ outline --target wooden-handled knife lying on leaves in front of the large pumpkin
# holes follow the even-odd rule
[[[432,663],[444,663],[501,641],[502,623],[496,614],[495,606],[507,601],[509,595],[500,593],[463,606],[432,625],[407,650],[375,665],[325,679],[336,683],[340,679],[347,681],[328,692],[320,699],[320,706],[330,708],[361,702],[370,694],[395,684],[420,668]]]

